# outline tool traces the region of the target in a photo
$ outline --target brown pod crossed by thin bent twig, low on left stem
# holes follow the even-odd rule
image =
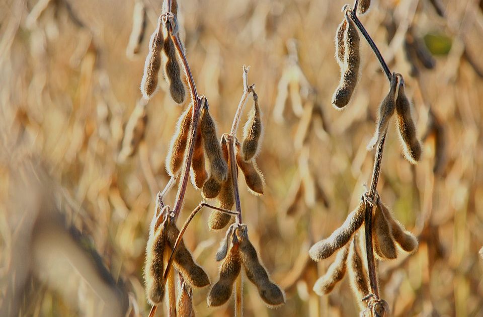
[[[173,250],[178,234],[180,234],[180,230],[176,227],[174,217],[170,216],[168,218],[166,231],[168,246]],[[210,284],[208,275],[206,275],[205,271],[195,263],[183,240],[180,241],[178,249],[174,255],[174,265],[181,275],[183,275],[185,281],[190,285],[204,287]]]

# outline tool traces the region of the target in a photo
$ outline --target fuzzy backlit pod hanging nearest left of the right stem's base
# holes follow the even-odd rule
[[[366,272],[362,263],[361,251],[359,243],[356,241],[357,236],[351,242],[347,264],[349,266],[349,278],[352,290],[359,301],[359,305],[363,305],[362,298],[369,294],[369,284],[366,279]],[[365,308],[365,307],[363,307]]]

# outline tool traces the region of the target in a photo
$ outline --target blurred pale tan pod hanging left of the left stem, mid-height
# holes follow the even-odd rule
[[[146,123],[146,103],[141,99],[137,102],[136,107],[127,121],[121,151],[119,152],[120,161],[124,161],[127,157],[136,153],[139,143],[144,137]]]

